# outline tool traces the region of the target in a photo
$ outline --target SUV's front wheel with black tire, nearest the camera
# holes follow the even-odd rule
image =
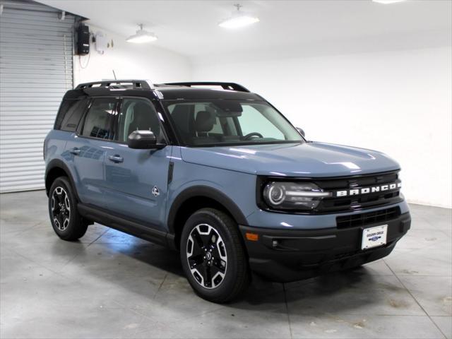
[[[180,255],[191,287],[210,302],[236,299],[251,280],[237,224],[220,210],[203,208],[190,216],[182,230]]]

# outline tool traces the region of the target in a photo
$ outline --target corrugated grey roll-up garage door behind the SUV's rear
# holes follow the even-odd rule
[[[44,188],[42,143],[73,88],[74,16],[0,1],[0,191]]]

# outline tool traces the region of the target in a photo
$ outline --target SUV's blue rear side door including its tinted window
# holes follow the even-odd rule
[[[105,153],[114,146],[113,121],[117,97],[91,100],[78,133],[66,144],[69,165],[76,175],[78,196],[83,203],[105,207]]]

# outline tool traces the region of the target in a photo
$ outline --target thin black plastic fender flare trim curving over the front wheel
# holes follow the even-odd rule
[[[248,225],[242,210],[240,210],[239,206],[237,206],[237,204],[226,194],[210,186],[191,186],[179,193],[177,198],[174,199],[171,208],[169,208],[167,227],[170,234],[174,234],[175,231],[174,220],[176,219],[177,210],[179,210],[185,201],[189,198],[194,198],[195,196],[203,196],[217,201],[231,213],[232,217],[239,225]]]

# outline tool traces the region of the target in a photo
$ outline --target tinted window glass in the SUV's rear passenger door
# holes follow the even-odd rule
[[[115,98],[99,98],[93,100],[85,117],[82,136],[91,138],[112,138],[112,117],[116,114]]]

